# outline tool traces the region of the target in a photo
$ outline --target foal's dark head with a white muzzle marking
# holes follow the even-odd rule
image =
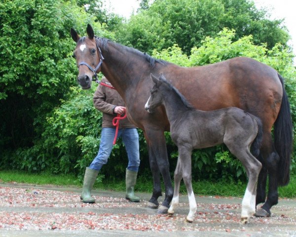
[[[160,92],[159,86],[164,82],[165,78],[162,76],[162,74],[160,75],[159,79],[153,74],[150,74],[150,77],[155,84],[150,90],[150,97],[145,104],[145,109],[149,113],[152,113],[153,109],[160,106],[163,102],[163,93]]]

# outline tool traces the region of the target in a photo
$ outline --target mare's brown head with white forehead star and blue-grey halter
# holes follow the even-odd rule
[[[97,77],[104,59],[101,49],[97,45],[94,31],[89,24],[87,25],[86,32],[88,37],[80,37],[71,28],[72,39],[77,43],[74,50],[74,57],[79,70],[77,81],[82,89],[89,89],[91,87],[92,78]]]

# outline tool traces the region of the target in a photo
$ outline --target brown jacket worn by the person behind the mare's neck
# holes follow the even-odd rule
[[[103,77],[101,81],[111,85],[111,83],[105,77]],[[95,108],[103,112],[102,127],[114,127],[112,120],[117,116],[114,113],[114,108],[116,106],[125,107],[124,101],[118,92],[112,88],[99,84],[95,91],[93,101]],[[127,118],[119,121],[119,129],[131,127],[136,128],[136,126],[132,124]]]

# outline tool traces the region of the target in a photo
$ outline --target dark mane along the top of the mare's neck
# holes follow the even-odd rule
[[[83,38],[83,37],[82,37]],[[104,49],[104,50],[108,50],[108,42],[111,41],[109,39],[106,39],[106,38],[101,38],[101,37],[95,37],[95,39],[98,41],[99,45]],[[112,41],[111,41],[112,42]],[[113,42],[115,43],[115,42]],[[135,48],[132,48],[132,47],[127,47],[127,46],[124,46],[122,44],[119,44],[119,43],[115,43],[117,45],[120,45],[121,47],[125,47],[128,49],[128,51],[130,52],[133,52],[133,53],[136,53],[137,55],[140,55],[142,57],[144,57],[146,59],[146,61],[149,62],[150,64],[150,67],[153,68],[155,66],[155,62],[156,63],[160,63],[162,65],[167,65],[168,62],[167,61],[164,61],[162,59],[156,59],[156,58],[153,58],[151,57],[149,54],[147,53],[143,53]]]

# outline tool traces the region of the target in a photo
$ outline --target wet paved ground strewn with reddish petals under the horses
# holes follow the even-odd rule
[[[196,196],[194,222],[186,223],[185,195],[169,217],[148,208],[150,194],[144,193],[140,203],[132,203],[122,198],[124,193],[95,191],[97,202],[82,204],[81,190],[74,188],[0,184],[0,191],[0,237],[296,237],[295,199],[280,199],[270,218],[252,218],[242,225],[240,198]]]

